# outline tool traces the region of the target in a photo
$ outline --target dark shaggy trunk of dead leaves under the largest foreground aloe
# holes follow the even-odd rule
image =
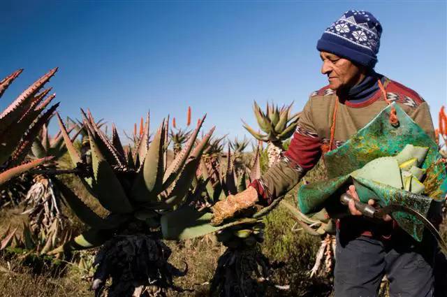
[[[108,297],[166,296],[168,288],[181,291],[173,284],[173,277],[184,272],[168,263],[170,254],[170,248],[153,236],[116,236],[96,254],[92,289],[101,296],[111,277]]]

